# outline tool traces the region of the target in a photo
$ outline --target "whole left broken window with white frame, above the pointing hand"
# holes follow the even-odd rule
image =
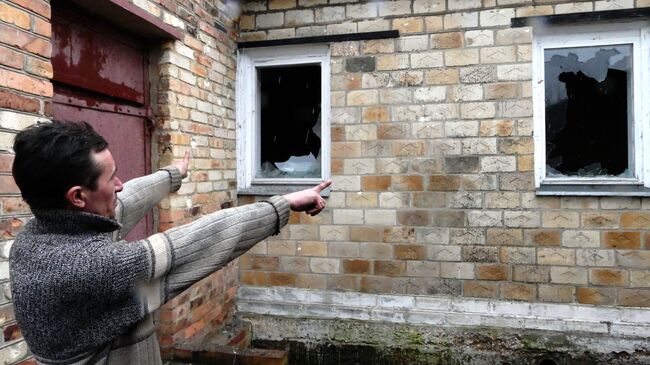
[[[283,194],[330,178],[327,44],[240,50],[236,101],[238,193]]]

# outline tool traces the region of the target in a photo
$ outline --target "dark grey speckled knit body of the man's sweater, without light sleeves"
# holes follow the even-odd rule
[[[150,272],[146,247],[34,231],[12,245],[10,268],[16,319],[37,357],[71,364],[142,320],[145,301],[134,288]]]

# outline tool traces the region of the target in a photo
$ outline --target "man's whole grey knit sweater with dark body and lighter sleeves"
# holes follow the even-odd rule
[[[141,241],[114,239],[180,184],[174,167],[125,183],[116,220],[33,212],[11,248],[10,274],[16,319],[40,363],[160,364],[150,313],[289,219],[276,196]]]

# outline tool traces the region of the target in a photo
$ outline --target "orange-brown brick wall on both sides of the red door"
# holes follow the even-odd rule
[[[222,2],[134,1],[179,28],[180,41],[151,41],[153,169],[192,150],[190,176],[160,204],[159,230],[235,204],[235,33]],[[13,138],[52,117],[51,7],[42,0],[0,1],[0,360],[32,362],[11,305],[7,258],[12,239],[29,219],[11,177]],[[215,21],[223,26],[216,27]],[[194,148],[192,148],[194,146]],[[160,311],[163,353],[200,339],[232,313],[237,267],[204,279]]]

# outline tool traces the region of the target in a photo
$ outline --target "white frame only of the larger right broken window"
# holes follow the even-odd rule
[[[533,128],[535,143],[535,187],[554,186],[561,192],[561,185],[573,186],[572,193],[588,194],[596,187],[605,194],[619,195],[616,186],[650,186],[650,153],[647,136],[650,132],[650,27],[648,22],[616,24],[558,26],[535,29],[533,35]],[[546,176],[546,100],[544,87],[544,50],[547,48],[573,48],[597,45],[632,45],[632,122],[628,128],[629,146],[633,151],[630,165],[634,176],[623,177],[548,177]],[[645,100],[645,101],[644,101]],[[629,109],[628,109],[629,113]],[[581,189],[580,186],[584,187]],[[575,189],[577,187],[577,189]],[[607,188],[609,187],[609,188]],[[620,189],[619,189],[620,190]],[[629,192],[629,190],[628,190]],[[630,194],[625,194],[630,195]]]

